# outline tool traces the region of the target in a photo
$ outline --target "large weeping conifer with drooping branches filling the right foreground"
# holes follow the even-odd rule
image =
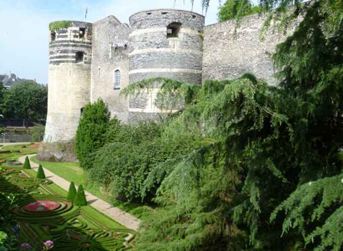
[[[151,79],[124,94],[179,90],[186,107],[162,137],[201,147],[154,168],[158,187],[137,250],[341,250],[343,245],[343,13],[339,1],[263,1],[267,22],[302,15],[273,61],[280,85],[251,74],[200,90]],[[266,23],[267,24],[267,23]],[[189,98],[189,94],[194,94]]]

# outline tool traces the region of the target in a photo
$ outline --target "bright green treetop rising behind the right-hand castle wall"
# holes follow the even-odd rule
[[[227,0],[218,12],[219,22],[260,13],[262,8],[253,6],[250,0]]]

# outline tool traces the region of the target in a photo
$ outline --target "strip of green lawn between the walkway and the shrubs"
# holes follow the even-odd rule
[[[44,162],[37,160],[36,156],[31,157],[31,161],[43,165],[44,168],[67,181],[74,181],[76,186],[83,185],[87,192],[90,192],[96,197],[105,200],[137,218],[145,218],[144,215],[145,212],[147,212],[146,205],[114,200],[112,197],[101,193],[100,187],[97,184],[87,182],[86,172],[80,168],[80,164],[78,162]]]

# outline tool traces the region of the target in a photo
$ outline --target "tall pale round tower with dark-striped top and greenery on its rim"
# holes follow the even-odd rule
[[[68,142],[74,139],[82,108],[90,101],[91,41],[91,23],[49,25],[48,115],[38,154],[42,160],[76,160],[74,146]]]

